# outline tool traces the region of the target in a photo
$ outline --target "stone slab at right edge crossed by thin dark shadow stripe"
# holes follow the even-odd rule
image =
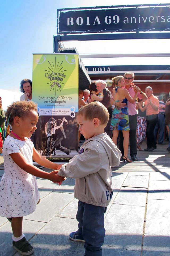
[[[170,181],[149,181],[148,199],[170,200]]]

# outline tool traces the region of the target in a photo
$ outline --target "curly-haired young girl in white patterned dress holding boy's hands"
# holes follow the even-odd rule
[[[3,145],[5,173],[0,183],[0,216],[11,222],[13,247],[22,255],[30,255],[34,248],[22,233],[22,221],[23,216],[35,211],[40,201],[35,176],[59,184],[63,177],[59,179],[56,171],[47,173],[32,165],[33,159],[53,170],[60,167],[39,155],[29,139],[37,129],[37,105],[32,101],[14,102],[8,107],[6,116],[12,131]]]

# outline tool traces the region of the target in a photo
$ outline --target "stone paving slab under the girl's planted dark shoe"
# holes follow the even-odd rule
[[[30,239],[44,225],[43,222],[23,220],[23,233],[26,239]],[[0,256],[14,255],[16,250],[12,247],[12,229],[9,221],[0,228],[0,236]]]

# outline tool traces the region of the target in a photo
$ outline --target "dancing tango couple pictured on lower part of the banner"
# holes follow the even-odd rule
[[[47,147],[42,151],[41,155],[56,155],[56,150],[60,150],[66,155],[70,154],[71,150],[61,145],[61,141],[64,138],[66,139],[63,123],[68,123],[65,117],[62,120],[55,120],[53,117],[49,118],[49,121],[45,124],[45,133],[48,137]]]

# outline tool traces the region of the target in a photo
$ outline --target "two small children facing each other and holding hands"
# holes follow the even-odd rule
[[[11,221],[13,247],[22,255],[34,251],[22,233],[22,221],[23,216],[35,211],[40,201],[35,176],[59,184],[64,177],[69,177],[75,178],[74,197],[79,200],[78,230],[69,237],[85,242],[85,256],[101,256],[105,237],[104,213],[113,195],[111,167],[118,166],[121,157],[120,150],[104,133],[109,119],[107,108],[96,101],[79,109],[77,121],[86,141],[79,154],[64,165],[43,158],[29,139],[38,121],[35,103],[15,102],[8,107],[6,115],[12,132],[3,146],[5,173],[0,183],[0,216]],[[32,159],[54,171],[47,173],[38,169],[32,165]]]

